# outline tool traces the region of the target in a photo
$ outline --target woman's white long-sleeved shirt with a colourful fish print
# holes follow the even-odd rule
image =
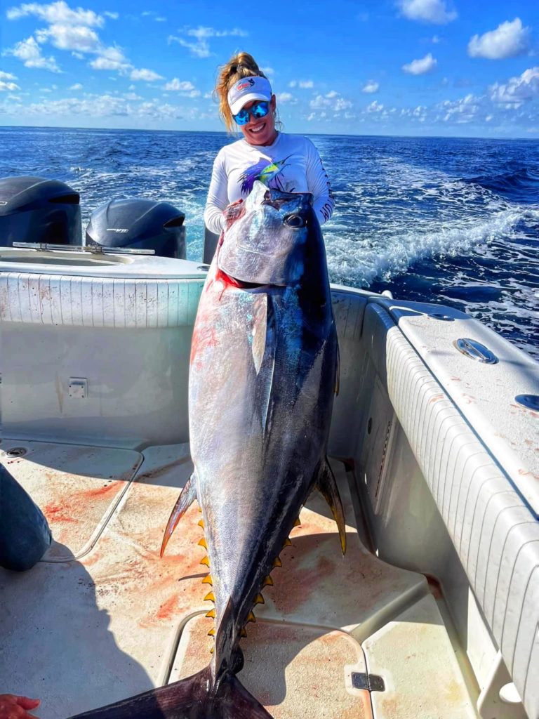
[[[272,145],[249,145],[245,139],[219,150],[204,210],[206,227],[220,234],[223,210],[245,199],[254,181],[283,192],[313,193],[313,206],[320,224],[333,213],[333,195],[318,150],[310,139],[280,132]]]

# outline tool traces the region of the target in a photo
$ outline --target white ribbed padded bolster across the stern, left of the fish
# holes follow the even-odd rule
[[[0,274],[0,321],[91,327],[192,325],[202,279]]]

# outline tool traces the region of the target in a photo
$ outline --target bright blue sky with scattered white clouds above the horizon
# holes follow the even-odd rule
[[[539,2],[0,1],[0,124],[222,129],[247,50],[289,132],[539,137]]]

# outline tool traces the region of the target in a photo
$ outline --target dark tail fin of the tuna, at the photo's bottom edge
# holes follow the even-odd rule
[[[227,672],[213,687],[211,668],[206,667],[180,682],[70,719],[272,719],[272,715],[234,674]]]

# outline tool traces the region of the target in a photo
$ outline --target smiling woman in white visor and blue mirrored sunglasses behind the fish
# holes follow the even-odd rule
[[[279,132],[277,102],[270,82],[247,52],[240,52],[221,68],[215,88],[226,129],[234,124],[243,139],[226,145],[213,162],[204,211],[206,227],[223,229],[223,210],[246,198],[255,180],[285,192],[310,192],[320,224],[333,213],[328,175],[315,146],[306,137]]]

